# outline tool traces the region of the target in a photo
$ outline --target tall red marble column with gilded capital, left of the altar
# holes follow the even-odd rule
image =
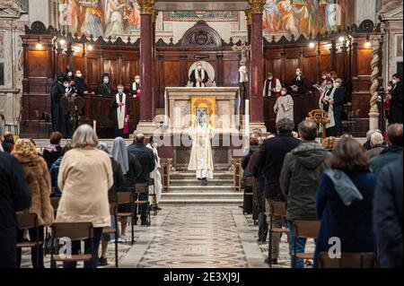
[[[137,132],[153,134],[154,98],[153,98],[153,22],[154,0],[139,0],[140,5],[140,76],[143,92],[140,96],[140,114]]]

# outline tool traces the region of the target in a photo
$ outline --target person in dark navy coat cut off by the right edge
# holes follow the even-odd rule
[[[373,225],[382,268],[402,268],[402,155],[382,169],[373,199]]]

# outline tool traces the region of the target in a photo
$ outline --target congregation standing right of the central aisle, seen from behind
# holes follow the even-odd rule
[[[309,120],[297,126],[298,134],[294,127],[291,119],[282,118],[277,134],[255,130],[242,159],[241,207],[257,221],[258,243],[268,239],[266,263],[278,264],[284,232],[291,267],[317,267],[319,255],[334,247],[333,238],[339,239],[342,254],[371,253],[379,267],[402,267],[402,124],[391,124],[386,134],[369,131],[364,144],[350,134],[319,143],[318,126]],[[254,179],[252,186],[248,178]],[[279,202],[285,216],[271,212]],[[320,222],[312,259],[296,256],[305,252],[307,238],[295,237],[295,221]],[[271,236],[271,226],[287,231]]]

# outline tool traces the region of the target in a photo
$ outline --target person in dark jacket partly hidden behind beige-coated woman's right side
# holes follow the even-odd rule
[[[127,187],[127,180],[125,179],[122,173],[122,169],[120,168],[119,162],[110,156],[108,145],[106,143],[99,143],[98,149],[100,149],[103,152],[106,152],[110,157],[113,173],[113,185],[108,190],[108,201],[110,202],[110,204],[114,204],[117,202],[117,192],[122,191],[125,189],[125,187]],[[116,230],[116,228],[118,228],[118,225],[115,224],[114,216],[111,216],[110,224],[112,230]],[[98,258],[98,265],[100,266],[108,265],[107,260],[108,243],[110,242],[112,236],[113,236],[112,239],[118,239],[115,238],[114,235],[110,235],[109,233],[102,234],[101,236],[101,256],[100,258]]]

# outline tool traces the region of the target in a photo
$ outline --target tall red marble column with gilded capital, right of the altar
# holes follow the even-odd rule
[[[251,54],[250,54],[250,131],[261,128],[266,132],[263,116],[262,88],[264,84],[263,70],[263,37],[262,11],[265,0],[249,0],[251,13]]]

